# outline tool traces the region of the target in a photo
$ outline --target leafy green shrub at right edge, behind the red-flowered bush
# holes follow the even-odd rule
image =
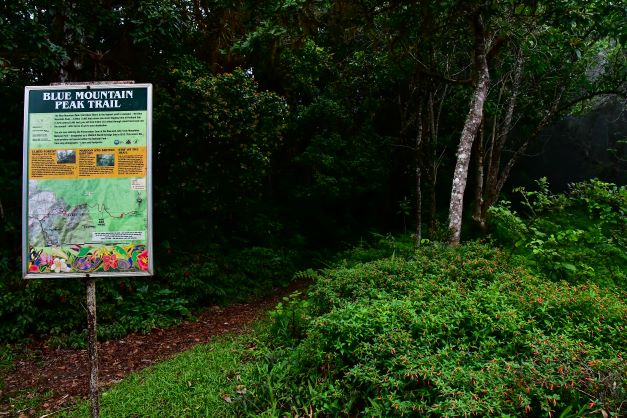
[[[495,236],[538,272],[571,283],[592,282],[627,290],[627,189],[590,180],[553,194],[519,188],[526,216],[502,201],[490,209]]]

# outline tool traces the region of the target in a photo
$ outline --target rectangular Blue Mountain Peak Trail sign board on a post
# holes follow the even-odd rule
[[[26,87],[25,278],[153,272],[152,85]]]

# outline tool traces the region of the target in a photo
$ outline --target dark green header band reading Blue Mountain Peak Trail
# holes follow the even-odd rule
[[[89,88],[29,91],[29,113],[146,110],[145,88]]]

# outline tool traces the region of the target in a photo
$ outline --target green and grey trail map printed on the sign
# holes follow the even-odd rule
[[[29,181],[31,247],[145,242],[147,229],[144,178]]]

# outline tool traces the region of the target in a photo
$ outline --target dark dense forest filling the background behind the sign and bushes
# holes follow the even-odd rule
[[[360,240],[447,241],[482,74],[462,239],[486,236],[488,208],[540,177],[558,191],[625,184],[624,21],[613,2],[575,0],[3,2],[0,316],[20,326],[1,339],[82,321],[67,314],[80,283],[20,278],[24,86],[154,86],[157,276],[104,285],[104,324],[122,300],[147,312],[103,327],[114,336],[268,288]],[[48,325],[33,304],[56,312]]]

